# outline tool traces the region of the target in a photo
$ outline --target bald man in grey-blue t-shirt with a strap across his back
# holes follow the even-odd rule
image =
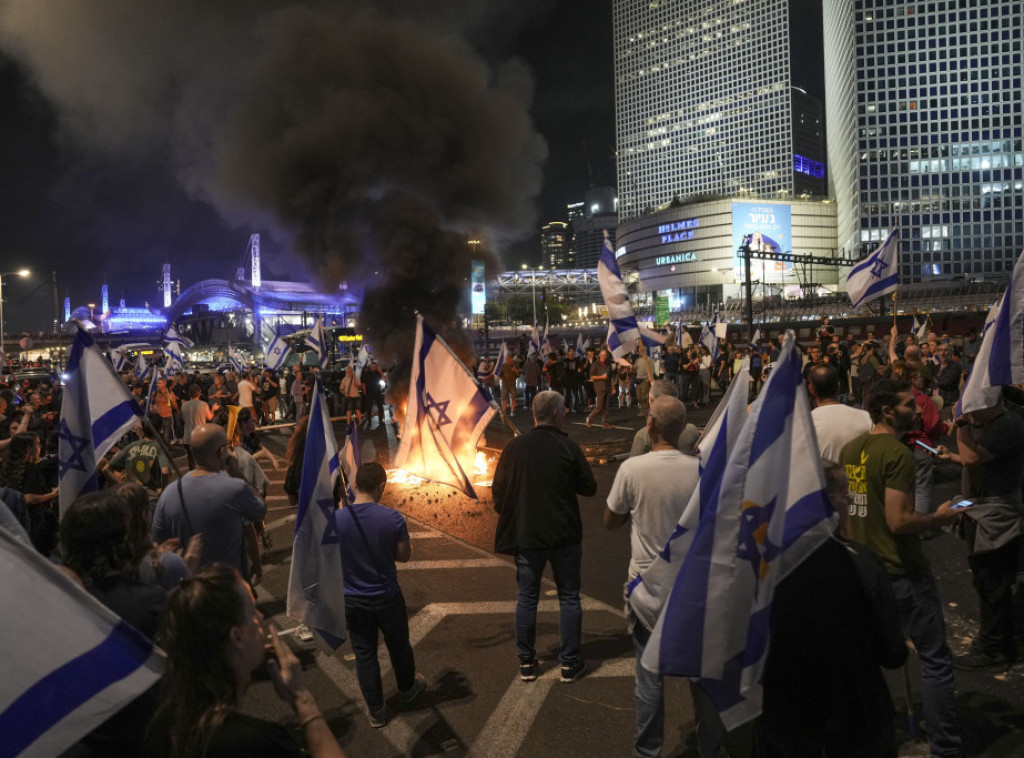
[[[172,537],[187,545],[203,535],[201,564],[227,563],[249,578],[251,566],[243,549],[249,523],[262,521],[266,504],[245,481],[224,471],[227,434],[222,426],[203,424],[191,432],[196,468],[165,488],[153,514],[153,539]]]

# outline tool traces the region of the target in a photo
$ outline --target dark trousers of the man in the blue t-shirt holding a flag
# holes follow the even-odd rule
[[[355,676],[362,699],[371,711],[384,707],[381,666],[377,661],[377,632],[384,633],[384,644],[391,657],[391,668],[399,690],[416,683],[416,660],[409,643],[409,613],[401,592],[384,597],[345,595],[345,623],[355,654]]]

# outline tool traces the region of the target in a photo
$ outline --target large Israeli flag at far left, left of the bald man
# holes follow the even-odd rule
[[[79,329],[60,405],[61,515],[80,495],[99,489],[97,461],[138,421],[140,412],[95,341]]]

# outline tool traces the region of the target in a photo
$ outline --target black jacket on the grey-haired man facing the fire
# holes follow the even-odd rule
[[[578,495],[597,492],[580,446],[554,426],[535,426],[514,437],[498,459],[492,494],[499,513],[495,552],[579,545]]]

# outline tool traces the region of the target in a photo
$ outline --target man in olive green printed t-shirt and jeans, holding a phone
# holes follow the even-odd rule
[[[850,482],[847,534],[882,559],[899,607],[900,623],[921,662],[921,701],[933,756],[963,756],[953,703],[953,664],[938,590],[920,534],[952,523],[951,501],[931,514],[913,510],[913,454],[900,438],[920,424],[909,382],[882,379],[871,387],[867,412],[874,426],[840,456]]]

